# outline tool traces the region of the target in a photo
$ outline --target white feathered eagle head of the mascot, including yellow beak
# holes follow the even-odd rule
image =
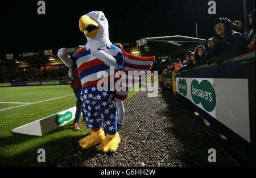
[[[109,23],[102,11],[92,11],[82,15],[79,20],[79,28],[84,32],[87,43],[86,48],[91,49],[92,54],[98,48],[110,47]]]

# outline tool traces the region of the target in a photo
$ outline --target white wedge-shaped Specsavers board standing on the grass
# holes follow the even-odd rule
[[[14,133],[43,136],[75,119],[76,106],[13,129]]]

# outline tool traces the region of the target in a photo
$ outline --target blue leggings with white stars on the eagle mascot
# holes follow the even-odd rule
[[[117,133],[117,114],[112,97],[113,92],[99,91],[96,86],[82,89],[81,101],[87,127],[97,129],[104,126],[107,134]]]

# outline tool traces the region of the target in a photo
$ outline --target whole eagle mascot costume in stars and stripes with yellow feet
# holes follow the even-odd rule
[[[72,56],[68,55],[65,48],[59,49],[57,53],[67,67],[77,67],[82,84],[80,98],[86,116],[86,126],[92,130],[92,134],[79,140],[79,145],[82,149],[87,149],[100,144],[97,148],[98,151],[115,152],[121,139],[117,132],[117,109],[113,102],[125,100],[129,90],[123,92],[115,92],[109,88],[99,90],[98,83],[102,77],[97,74],[107,73],[108,76],[105,78],[109,81],[111,76],[114,77],[118,71],[125,73],[149,71],[155,57],[133,56],[112,45],[109,40],[108,20],[102,11],[92,11],[82,15],[79,27],[87,38],[86,45]],[[114,68],[114,70],[110,70],[110,68]],[[131,87],[126,89],[131,89]],[[102,126],[104,126],[106,135]]]

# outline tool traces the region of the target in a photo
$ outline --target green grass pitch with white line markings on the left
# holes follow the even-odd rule
[[[132,94],[134,92],[130,92],[130,96]],[[44,101],[52,98],[57,99]],[[39,101],[44,102],[31,105],[10,104],[10,102],[29,104]],[[77,147],[78,140],[89,134],[90,130],[83,125],[79,131],[73,131],[73,122],[69,122],[44,136],[13,133],[13,129],[16,127],[47,117],[48,115],[55,114],[75,105],[76,98],[69,85],[0,88],[0,165],[51,165],[65,151],[69,150],[69,148]],[[10,107],[14,108],[8,109]],[[39,155],[37,151],[39,148],[46,150],[46,163],[38,163],[37,161]]]

